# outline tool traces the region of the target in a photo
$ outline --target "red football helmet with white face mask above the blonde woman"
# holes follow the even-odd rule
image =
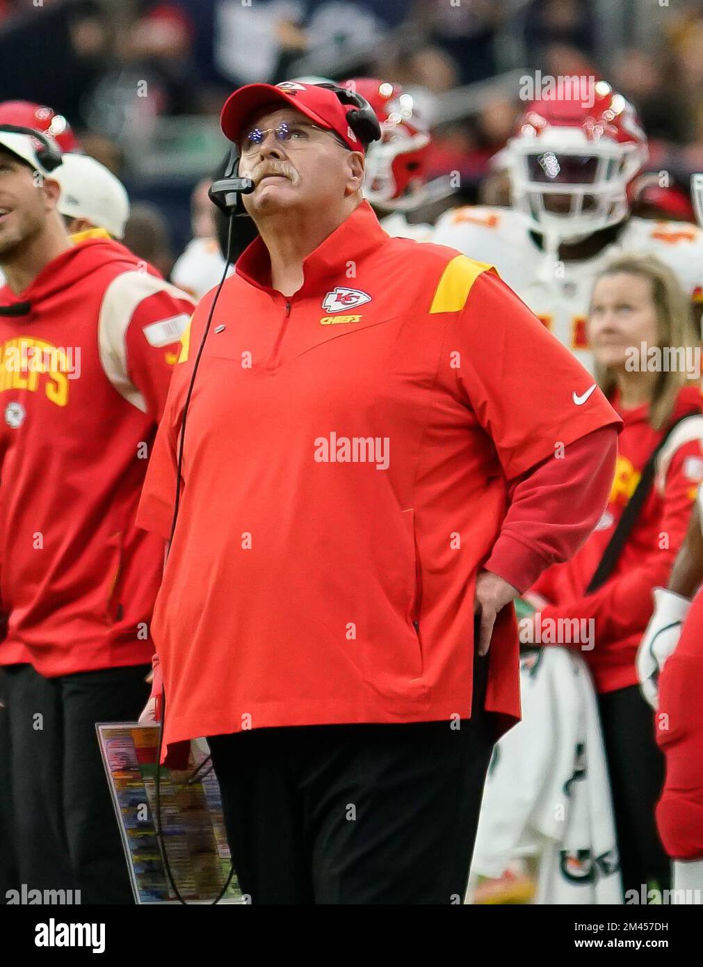
[[[529,105],[508,142],[513,205],[553,244],[587,238],[627,217],[630,185],[647,155],[622,95],[604,80],[589,80],[585,90],[563,83]]]

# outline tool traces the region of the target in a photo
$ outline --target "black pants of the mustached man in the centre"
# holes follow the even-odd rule
[[[252,903],[461,903],[494,721],[254,729],[208,741]],[[454,723],[456,724],[456,723]]]

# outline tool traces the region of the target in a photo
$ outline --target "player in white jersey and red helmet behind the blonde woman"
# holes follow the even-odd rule
[[[504,149],[511,208],[446,212],[431,241],[494,265],[499,275],[593,369],[585,321],[593,280],[611,255],[659,256],[700,301],[703,232],[681,221],[630,215],[632,181],[647,139],[630,103],[605,81],[584,102],[531,103]]]

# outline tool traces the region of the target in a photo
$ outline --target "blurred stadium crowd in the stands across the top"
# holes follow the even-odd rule
[[[223,154],[216,116],[233,88],[309,74],[401,83],[433,128],[428,175],[459,173],[452,203],[495,203],[489,161],[513,131],[517,78],[535,70],[604,76],[627,97],[650,139],[647,170],[672,178],[667,216],[691,220],[688,175],[703,167],[698,0],[0,2],[0,100],[50,104],[133,201],[156,206],[148,254],[162,267],[188,241],[190,190]],[[428,214],[436,206],[416,218]]]

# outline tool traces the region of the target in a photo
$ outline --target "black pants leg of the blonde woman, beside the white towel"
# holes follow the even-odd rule
[[[656,880],[670,889],[670,861],[655,820],[664,758],[655,741],[654,712],[635,685],[599,695],[600,723],[615,812],[623,890]]]

